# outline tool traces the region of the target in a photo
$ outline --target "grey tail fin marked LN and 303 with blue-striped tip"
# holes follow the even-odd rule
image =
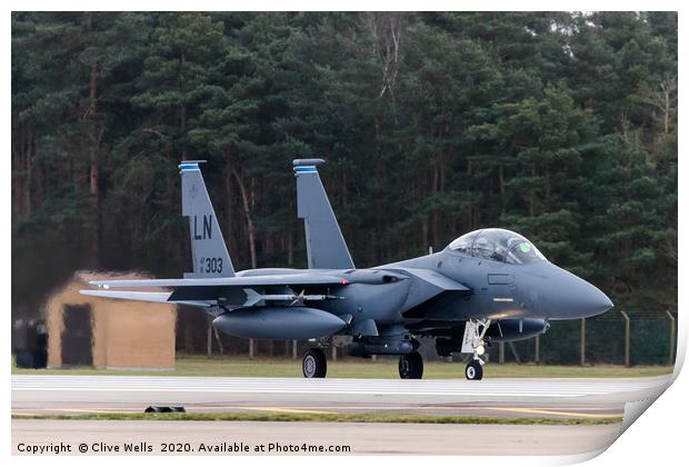
[[[184,278],[232,277],[234,268],[224,245],[218,217],[210,202],[199,160],[182,161],[182,216],[189,217],[193,272]]]

